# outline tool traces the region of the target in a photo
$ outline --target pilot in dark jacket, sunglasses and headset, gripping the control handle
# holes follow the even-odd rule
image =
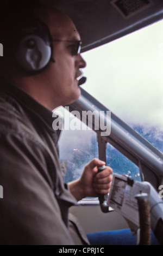
[[[64,183],[52,110],[80,96],[80,35],[59,10],[13,1],[1,14],[1,245],[88,245],[72,205],[109,192],[112,169],[95,158]],[[22,3],[23,2],[23,3]],[[3,27],[2,27],[3,26]]]

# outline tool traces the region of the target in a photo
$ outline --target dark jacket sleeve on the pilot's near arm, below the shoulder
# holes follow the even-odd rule
[[[20,134],[0,137],[0,243],[74,245],[62,221],[43,153]]]

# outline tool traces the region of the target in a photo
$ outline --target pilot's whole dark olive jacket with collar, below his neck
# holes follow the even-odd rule
[[[52,112],[20,88],[0,85],[0,244],[86,245],[68,209]]]

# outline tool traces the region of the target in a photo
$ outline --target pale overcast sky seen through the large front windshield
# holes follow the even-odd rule
[[[87,92],[128,124],[163,130],[163,21],[83,57]]]

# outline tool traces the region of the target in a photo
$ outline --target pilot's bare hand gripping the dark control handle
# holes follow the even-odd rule
[[[94,158],[84,168],[82,176],[77,181],[69,183],[70,192],[79,201],[85,197],[97,197],[98,194],[107,194],[112,181],[112,169],[109,166],[98,172],[98,167],[105,162]]]

